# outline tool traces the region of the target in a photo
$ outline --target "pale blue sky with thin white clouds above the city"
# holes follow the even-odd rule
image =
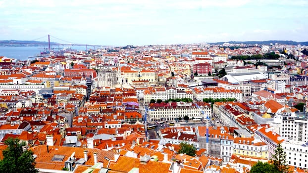
[[[0,0],[0,40],[97,45],[308,41],[308,0]],[[58,40],[58,39],[61,40]]]

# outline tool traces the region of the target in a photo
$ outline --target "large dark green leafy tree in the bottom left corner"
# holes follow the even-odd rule
[[[18,138],[8,138],[4,141],[8,147],[3,150],[3,160],[0,161],[1,173],[38,173],[35,169],[35,159],[31,150],[23,150],[25,142]]]

